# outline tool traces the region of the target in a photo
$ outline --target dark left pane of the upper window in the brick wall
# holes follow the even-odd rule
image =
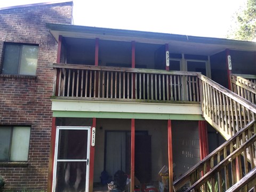
[[[19,69],[20,46],[5,45],[3,74],[18,74]]]

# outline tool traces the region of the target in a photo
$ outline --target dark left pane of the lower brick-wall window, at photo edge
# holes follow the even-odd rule
[[[0,161],[9,160],[11,127],[0,127]]]

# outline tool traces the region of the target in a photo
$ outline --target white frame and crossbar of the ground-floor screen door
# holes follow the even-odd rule
[[[90,126],[57,126],[56,138],[55,138],[55,153],[54,153],[54,165],[53,165],[53,185],[52,192],[55,192],[56,188],[56,174],[57,174],[57,163],[58,162],[87,162],[87,159],[61,159],[58,161],[58,143],[59,143],[59,132],[60,130],[87,130],[87,159],[90,160],[90,146],[91,146],[91,127]],[[89,192],[89,171],[90,171],[90,161],[87,162],[86,167],[86,181],[85,181],[85,192]]]

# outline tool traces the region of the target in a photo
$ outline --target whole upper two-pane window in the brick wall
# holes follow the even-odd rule
[[[5,43],[2,74],[36,75],[38,45]]]

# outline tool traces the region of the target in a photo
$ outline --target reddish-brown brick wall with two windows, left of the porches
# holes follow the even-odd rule
[[[0,165],[6,189],[46,190],[50,155],[52,63],[57,43],[45,23],[71,23],[72,2],[0,11],[0,58],[4,42],[39,45],[36,77],[0,74],[0,125],[30,125],[28,165]],[[2,62],[0,63],[2,65]]]

